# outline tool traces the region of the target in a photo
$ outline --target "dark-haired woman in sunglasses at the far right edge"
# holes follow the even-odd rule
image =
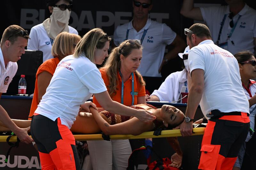
[[[234,55],[239,64],[240,76],[242,85],[244,88],[244,93],[249,100],[250,105],[250,130],[245,140],[245,143],[252,138],[253,131],[255,129],[255,114],[256,114],[256,82],[252,79],[256,78],[256,59],[252,52],[242,51]],[[236,163],[233,170],[240,170],[244,153],[245,153],[245,143],[242,145]],[[255,167],[252,167],[252,169]]]

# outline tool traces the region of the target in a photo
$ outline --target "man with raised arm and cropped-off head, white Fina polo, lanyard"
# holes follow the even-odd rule
[[[256,10],[243,0],[228,1],[227,6],[194,7],[193,0],[184,0],[180,13],[185,17],[205,21],[212,41],[233,55],[242,50],[255,52]]]

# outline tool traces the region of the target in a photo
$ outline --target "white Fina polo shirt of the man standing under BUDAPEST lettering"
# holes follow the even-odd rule
[[[176,33],[166,24],[152,21],[151,19],[148,19],[146,25],[137,32],[133,28],[131,21],[117,26],[114,32],[114,43],[116,46],[126,40],[127,33],[127,40],[138,39],[142,41],[142,60],[138,68],[141,75],[161,77],[158,69],[164,58],[165,46],[172,43],[176,37]],[[145,34],[144,39],[142,38],[143,34]]]

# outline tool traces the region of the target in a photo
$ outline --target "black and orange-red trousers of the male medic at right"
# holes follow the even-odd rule
[[[232,121],[232,117],[237,116],[230,115],[227,117],[229,120],[208,121],[202,140],[198,169],[232,170],[250,128],[248,120]]]

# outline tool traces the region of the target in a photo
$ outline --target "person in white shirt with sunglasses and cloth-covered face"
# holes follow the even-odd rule
[[[72,0],[46,0],[52,15],[43,23],[31,28],[29,50],[43,51],[43,62],[53,58],[52,44],[56,36],[64,31],[78,34],[75,28],[68,26],[68,20],[73,7]]]

